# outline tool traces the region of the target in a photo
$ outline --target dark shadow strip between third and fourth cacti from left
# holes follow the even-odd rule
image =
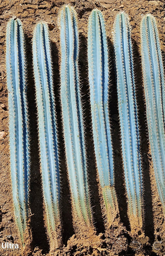
[[[84,132],[86,140],[86,153],[88,161],[88,182],[90,192],[90,202],[92,207],[93,223],[97,233],[104,233],[103,215],[101,212],[101,202],[99,198],[97,172],[95,166],[94,143],[92,139],[92,117],[89,102],[88,83],[88,62],[87,62],[87,38],[80,33],[79,70],[81,82],[81,102],[83,104]]]

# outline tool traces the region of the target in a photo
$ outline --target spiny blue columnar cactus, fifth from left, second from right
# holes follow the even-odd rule
[[[130,30],[128,16],[124,12],[119,13],[114,24],[117,95],[123,166],[133,231],[134,228],[142,227],[143,183]]]

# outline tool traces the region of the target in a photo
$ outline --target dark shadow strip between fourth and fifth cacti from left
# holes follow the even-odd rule
[[[110,38],[107,38],[109,49],[109,116],[111,120],[111,133],[112,133],[112,145],[114,153],[115,164],[115,190],[117,195],[117,202],[119,207],[119,215],[122,223],[127,230],[131,230],[129,217],[127,214],[127,198],[124,181],[123,160],[121,151],[121,135],[120,135],[120,122],[119,113],[117,107],[117,81],[116,81],[116,67],[115,67],[115,51],[113,43]]]

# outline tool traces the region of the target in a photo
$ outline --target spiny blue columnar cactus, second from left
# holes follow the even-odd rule
[[[48,227],[60,221],[60,178],[48,25],[38,23],[33,37],[33,65],[38,109],[39,149]]]

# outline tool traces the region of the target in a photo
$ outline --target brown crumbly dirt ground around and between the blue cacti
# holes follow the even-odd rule
[[[61,109],[59,105],[59,64],[60,43],[58,12],[64,3],[70,3],[78,13],[80,35],[79,67],[81,76],[81,93],[84,102],[85,132],[87,141],[87,158],[89,166],[89,189],[96,233],[86,233],[84,236],[75,235],[71,215],[70,190],[64,160],[64,144],[62,140]],[[115,158],[115,189],[119,204],[119,216],[116,224],[110,230],[106,229],[106,219],[99,196],[98,177],[95,169],[93,142],[91,139],[91,116],[89,106],[89,84],[87,75],[87,22],[92,9],[98,8],[103,12],[109,44],[110,64],[110,117],[112,140]],[[125,11],[130,18],[132,27],[132,43],[134,49],[134,71],[136,77],[137,103],[140,122],[141,154],[143,157],[144,183],[144,233],[133,237],[130,233],[127,202],[123,180],[123,168],[120,145],[120,129],[117,111],[117,90],[114,68],[114,52],[112,45],[112,29],[115,15]],[[148,145],[147,125],[145,117],[145,101],[140,56],[140,21],[144,14],[151,13],[156,17],[159,29],[162,55],[165,60],[165,0],[0,0],[0,131],[7,135],[0,140],[0,256],[22,256],[24,254],[14,217],[12,202],[10,155],[8,137],[8,92],[6,87],[6,24],[11,17],[19,17],[22,21],[28,61],[28,106],[31,127],[31,249],[26,249],[29,256],[59,255],[119,255],[119,256],[155,256],[165,255],[165,219],[162,214],[154,171]],[[32,36],[34,26],[40,20],[48,22],[53,59],[54,93],[56,96],[56,111],[59,131],[59,147],[61,159],[62,183],[62,236],[64,247],[58,252],[49,253],[49,241],[44,224],[42,201],[42,185],[39,168],[38,136],[36,123],[36,104],[34,77],[32,67]],[[120,221],[119,221],[120,220]],[[19,249],[3,249],[1,244],[11,242],[19,244]]]

